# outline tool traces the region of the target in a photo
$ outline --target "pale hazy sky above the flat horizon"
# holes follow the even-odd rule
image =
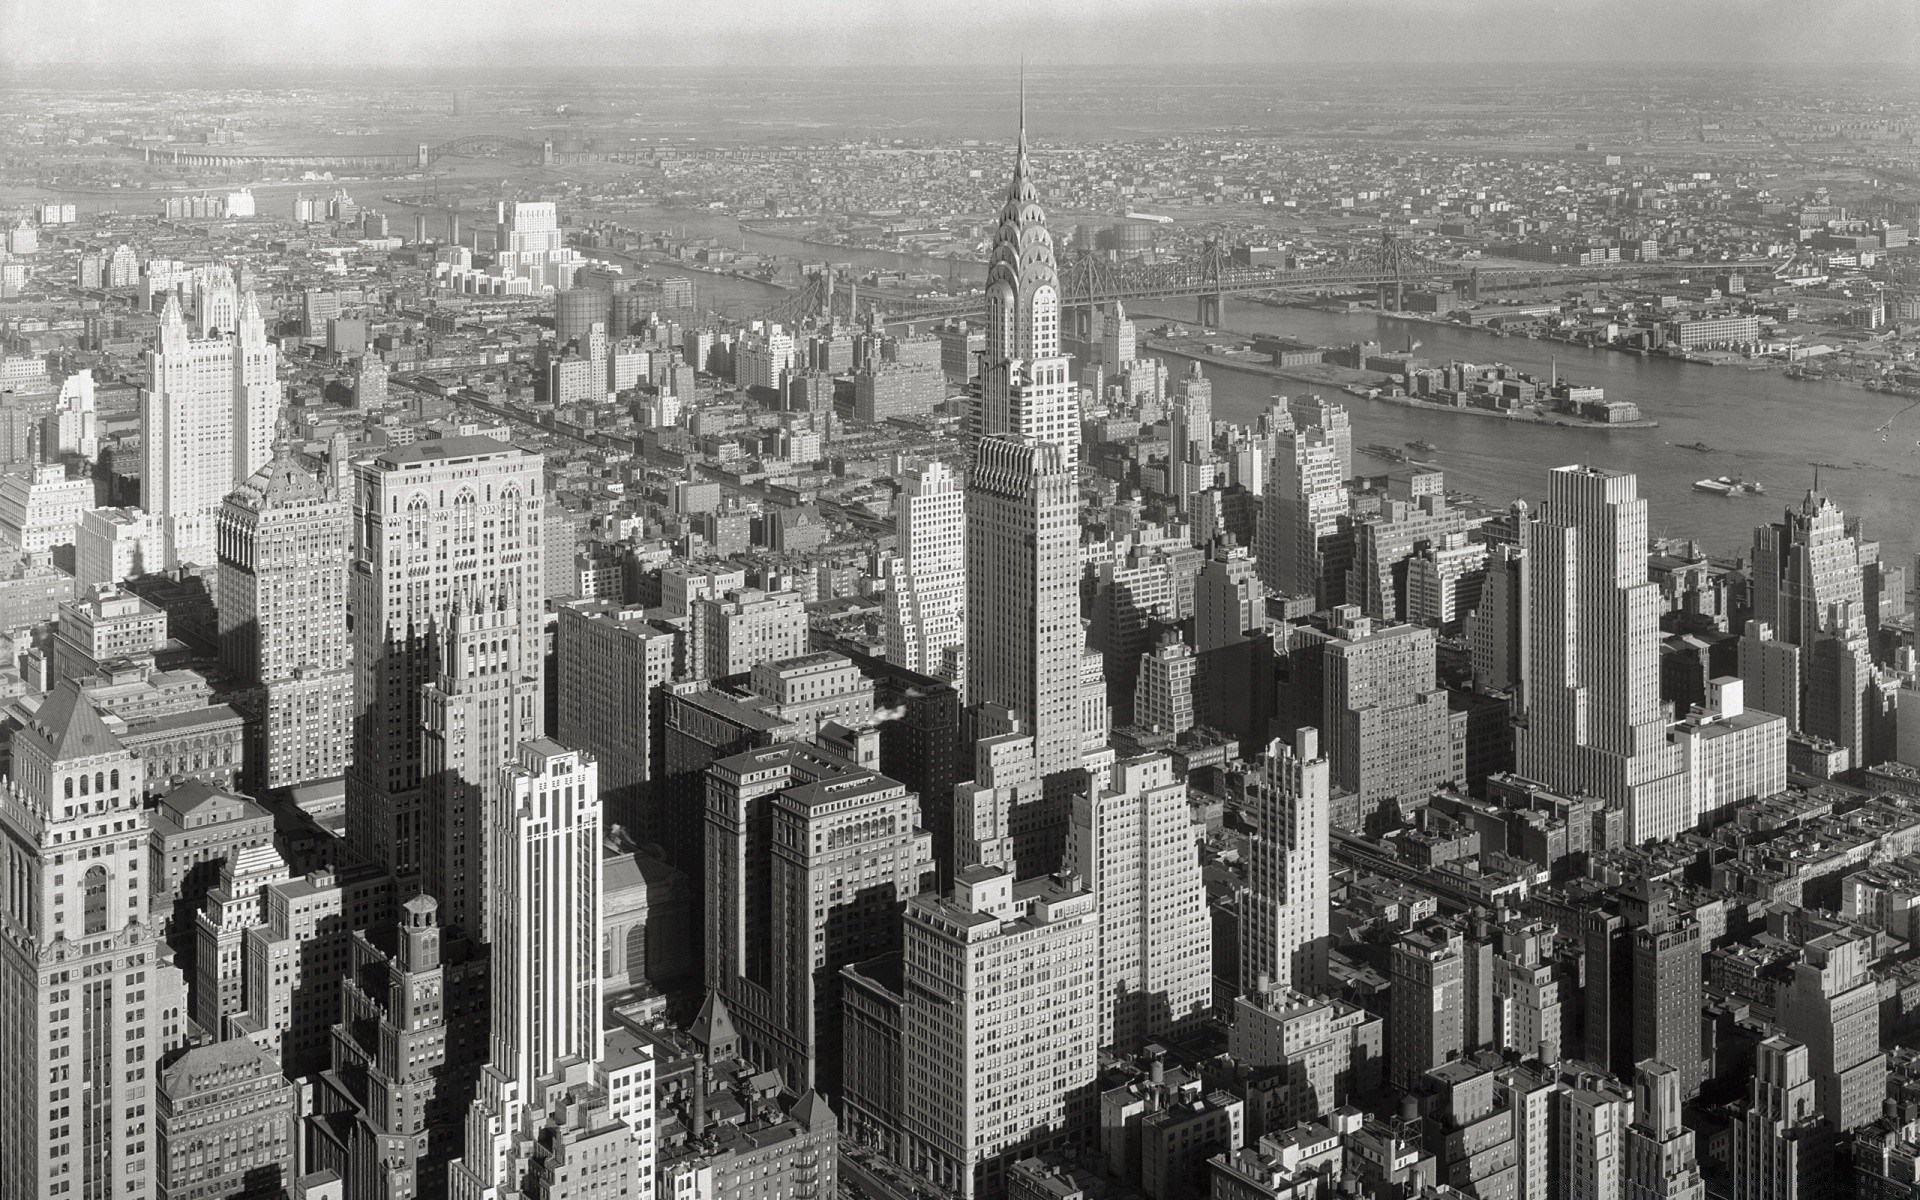
[[[511,83],[515,65],[1010,63],[1021,46],[1062,63],[1388,71],[1920,63],[1920,0],[0,0],[0,67],[467,63]]]

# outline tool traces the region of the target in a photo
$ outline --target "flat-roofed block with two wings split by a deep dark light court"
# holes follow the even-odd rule
[[[795,741],[708,768],[707,983],[753,1062],[797,1092],[837,1083],[839,968],[897,948],[900,900],[931,874],[918,797],[874,770]]]

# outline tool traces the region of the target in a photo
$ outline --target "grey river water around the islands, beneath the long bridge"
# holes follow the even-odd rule
[[[641,209],[618,219],[637,228],[674,227],[741,244],[739,225],[722,213]],[[945,259],[814,248],[753,232],[745,234],[745,246],[760,253],[828,257],[862,267],[947,271]],[[666,271],[672,267],[647,269],[649,275]],[[960,271],[979,275],[981,267],[962,265]],[[743,311],[778,298],[774,288],[751,280],[699,275],[697,282],[714,303]],[[1131,315],[1142,332],[1162,319],[1192,321],[1190,305],[1175,301],[1142,305]],[[1421,342],[1419,353],[1430,361],[1509,363],[1540,376],[1557,363],[1563,380],[1605,388],[1611,399],[1630,399],[1642,415],[1661,422],[1653,430],[1567,428],[1348,399],[1356,445],[1432,442],[1440,447],[1432,457],[1446,468],[1448,486],[1492,503],[1517,497],[1538,501],[1546,493],[1546,472],[1567,463],[1632,470],[1640,476],[1653,534],[1699,538],[1707,551],[1734,555],[1751,547],[1753,526],[1778,520],[1786,505],[1799,503],[1812,486],[1812,463],[1836,463],[1841,468],[1820,468],[1820,490],[1862,518],[1866,536],[1880,540],[1882,557],[1907,564],[1920,547],[1920,530],[1912,528],[1920,516],[1920,409],[1895,420],[1885,436],[1876,432],[1908,403],[1895,396],[1845,382],[1791,380],[1778,371],[1498,338],[1379,313],[1323,313],[1229,300],[1227,326],[1319,346],[1377,340],[1388,349],[1404,349],[1411,338]],[[1271,396],[1313,390],[1244,371],[1202,369],[1213,380],[1213,415],[1219,420],[1252,422]],[[1715,449],[1682,449],[1697,442]],[[1356,467],[1367,470],[1390,468],[1357,451],[1356,459]],[[1693,480],[1720,474],[1757,480],[1766,495],[1693,492]]]

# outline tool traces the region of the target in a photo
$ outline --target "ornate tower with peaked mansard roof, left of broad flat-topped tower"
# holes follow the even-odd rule
[[[348,513],[332,476],[288,445],[221,505],[221,666],[259,689],[263,787],[348,768]]]

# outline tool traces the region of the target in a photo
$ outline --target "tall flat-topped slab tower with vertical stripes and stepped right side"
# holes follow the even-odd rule
[[[1634,476],[1555,467],[1528,530],[1526,568],[1519,774],[1624,806],[1628,841],[1680,833],[1692,826],[1692,797],[1667,741],[1661,595],[1647,580],[1647,501]]]

